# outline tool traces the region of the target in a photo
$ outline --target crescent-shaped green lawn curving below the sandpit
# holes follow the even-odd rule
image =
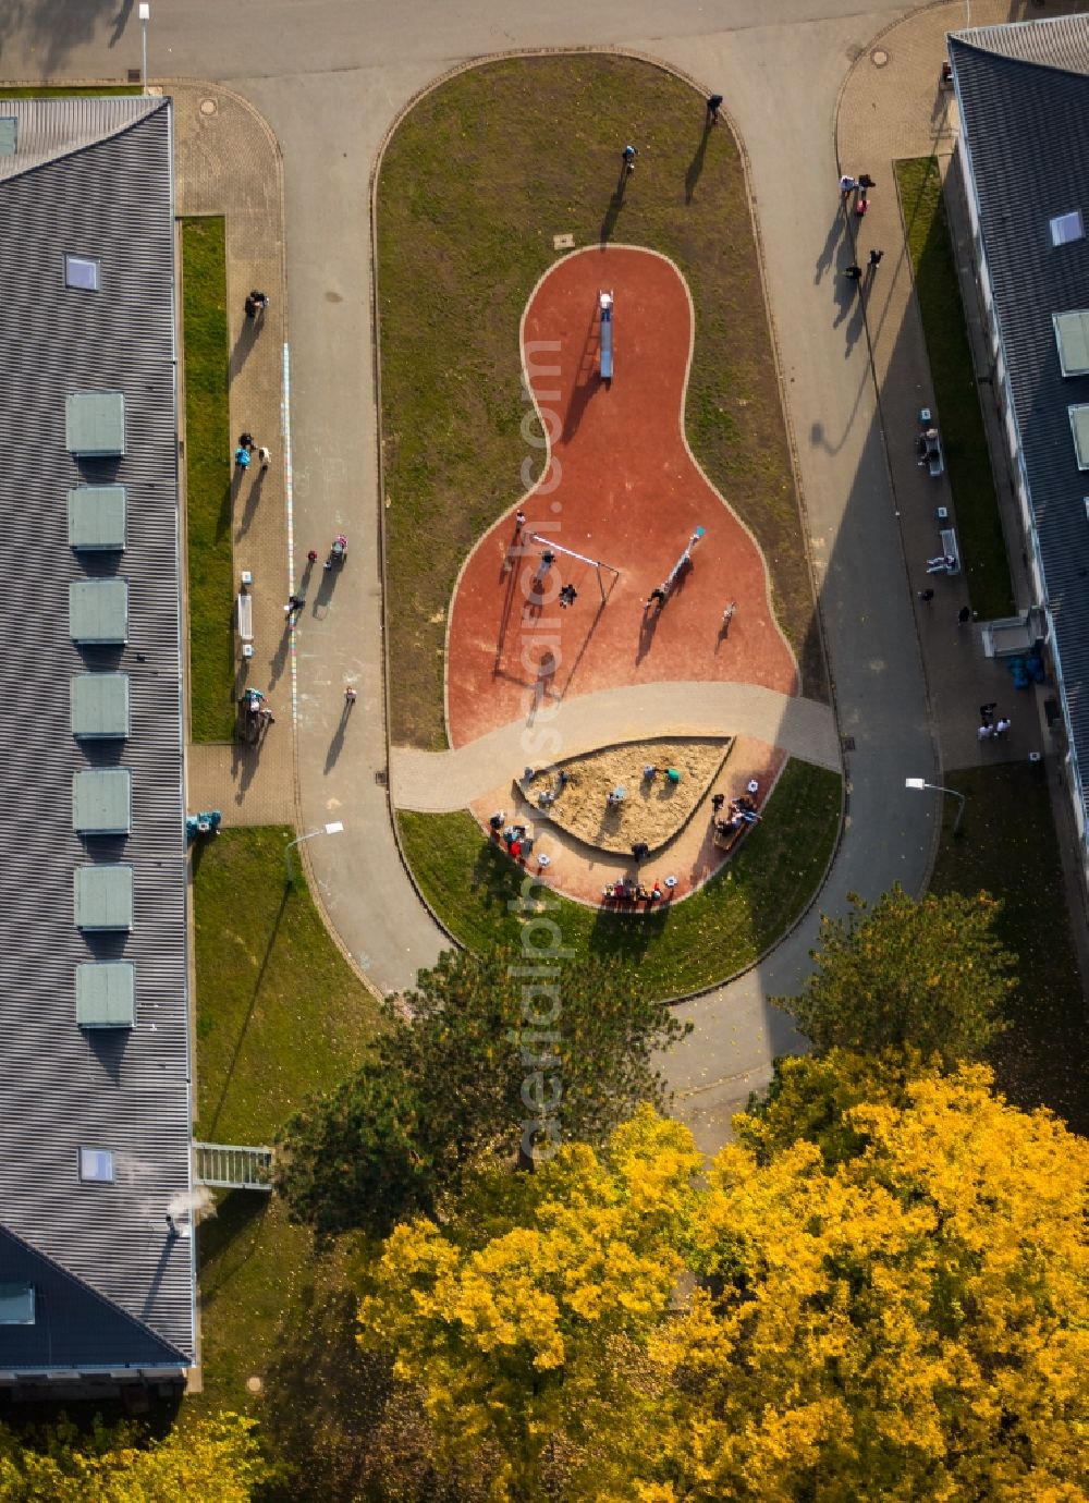
[[[409,864],[424,896],[470,950],[517,944],[526,920],[509,909],[523,873],[467,813],[400,812]],[[548,894],[548,914],[575,959],[616,956],[653,996],[682,996],[760,956],[810,903],[840,828],[840,777],[789,762],[763,822],[698,893],[650,914],[584,908]]]

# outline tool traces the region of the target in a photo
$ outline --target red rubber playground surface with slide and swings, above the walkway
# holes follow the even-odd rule
[[[614,295],[608,385],[598,374],[602,289]],[[550,702],[626,684],[733,679],[798,693],[763,558],[683,440],[691,332],[680,275],[649,251],[610,246],[569,256],[533,293],[523,356],[551,451],[521,508],[526,534],[545,541],[515,543],[511,508],[461,573],[448,637],[452,745]],[[533,460],[539,430],[523,424],[524,433],[535,430],[538,448],[526,445]],[[664,609],[644,610],[697,528],[706,531],[691,568]],[[550,544],[619,574],[602,568],[599,585],[592,564],[556,553],[538,580]],[[559,604],[565,585],[577,591],[571,609]],[[732,600],[736,613],[724,634]]]

